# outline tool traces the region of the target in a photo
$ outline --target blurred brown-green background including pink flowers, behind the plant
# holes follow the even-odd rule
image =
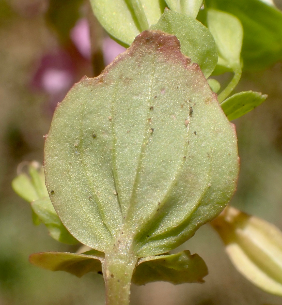
[[[276,4],[282,8],[282,1]],[[43,135],[72,84],[97,76],[124,50],[99,26],[87,1],[0,0],[0,305],[105,302],[101,275],[79,279],[28,262],[34,252],[75,252],[77,246],[56,242],[43,224],[35,227],[29,204],[12,191],[11,181],[21,161],[42,163]],[[241,173],[232,204],[282,229],[282,64],[243,73],[236,91],[245,90],[269,97],[234,122]],[[187,249],[204,258],[206,282],[133,286],[132,304],[282,305],[282,298],[237,273],[209,224],[179,248],[175,252]]]

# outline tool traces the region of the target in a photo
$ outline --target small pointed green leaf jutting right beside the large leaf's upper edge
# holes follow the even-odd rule
[[[254,91],[236,93],[220,104],[228,120],[232,121],[259,106],[267,98],[266,94]]]

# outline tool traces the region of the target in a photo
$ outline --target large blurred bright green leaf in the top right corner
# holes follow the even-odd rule
[[[244,38],[244,69],[265,69],[282,58],[282,13],[259,0],[205,0],[206,7],[235,15]]]

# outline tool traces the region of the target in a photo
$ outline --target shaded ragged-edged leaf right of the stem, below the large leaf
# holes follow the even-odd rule
[[[208,274],[204,260],[198,254],[182,251],[171,255],[145,257],[139,260],[132,282],[145,285],[165,281],[174,285],[182,283],[203,283]]]

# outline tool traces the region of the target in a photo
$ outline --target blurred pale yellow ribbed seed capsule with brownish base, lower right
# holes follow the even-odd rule
[[[282,296],[282,232],[230,206],[211,224],[234,267],[260,289]]]

